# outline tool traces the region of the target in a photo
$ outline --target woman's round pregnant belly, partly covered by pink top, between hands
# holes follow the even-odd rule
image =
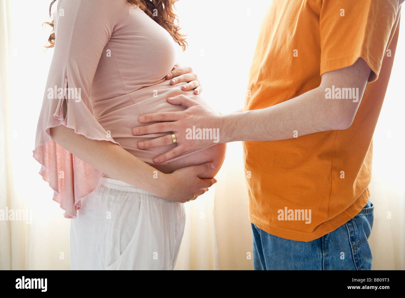
[[[181,90],[181,86],[183,84],[184,83],[171,85],[170,80],[164,80],[159,84],[144,87],[131,92],[128,94],[128,96],[130,96],[130,104],[114,111],[109,111],[108,113],[99,117],[97,120],[107,131],[107,133],[111,134],[111,138],[117,141],[120,146],[159,171],[164,173],[172,173],[175,170],[183,167],[200,165],[207,162],[215,162],[218,165],[216,169],[199,175],[200,178],[212,178],[217,174],[224,161],[226,150],[225,144],[215,144],[204,150],[185,152],[178,157],[175,157],[170,162],[164,164],[155,164],[153,163],[154,157],[170,150],[171,148],[174,148],[177,146],[177,144],[169,144],[161,147],[141,150],[137,146],[139,141],[153,139],[168,133],[154,133],[142,136],[135,136],[132,134],[132,129],[135,126],[145,125],[138,121],[138,118],[141,115],[164,111],[184,110],[185,107],[181,105],[172,105],[166,101],[168,97],[173,97],[180,94],[190,97],[191,99],[201,103],[205,107],[217,113],[217,111],[213,109],[213,107],[211,107],[200,94],[194,94],[193,90]]]

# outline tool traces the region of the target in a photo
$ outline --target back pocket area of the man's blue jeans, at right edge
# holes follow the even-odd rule
[[[373,264],[373,255],[368,241],[373,227],[373,211],[374,205],[369,201],[355,217],[345,224],[357,270],[371,270]]]

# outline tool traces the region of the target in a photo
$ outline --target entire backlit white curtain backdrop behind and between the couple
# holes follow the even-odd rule
[[[0,0],[0,211],[28,210],[26,221],[0,221],[0,269],[70,269],[69,226],[51,200],[32,158],[52,50],[50,0]],[[203,95],[223,113],[243,105],[247,73],[267,0],[177,2],[189,48],[183,64]],[[402,26],[405,30],[404,25]],[[403,33],[403,32],[402,32]],[[374,137],[371,233],[374,269],[405,269],[403,168],[405,35],[400,34],[390,86]],[[354,148],[355,150],[355,148]],[[187,223],[176,269],[252,269],[252,236],[240,143],[228,145],[218,183],[186,204]],[[390,213],[387,213],[390,212]]]

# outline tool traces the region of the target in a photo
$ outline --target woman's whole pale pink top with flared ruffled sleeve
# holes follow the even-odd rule
[[[184,83],[171,85],[164,78],[181,48],[127,0],[59,0],[55,36],[33,152],[53,199],[66,210],[65,217],[75,218],[80,200],[98,187],[104,173],[52,141],[49,128],[63,124],[89,139],[119,144],[153,164],[153,157],[175,145],[138,149],[138,141],[165,135],[134,136],[132,129],[142,125],[139,116],[183,110],[166,101],[179,94],[204,101],[192,90],[182,91]]]

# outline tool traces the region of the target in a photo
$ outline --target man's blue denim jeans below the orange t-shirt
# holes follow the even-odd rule
[[[264,232],[252,223],[255,270],[371,270],[367,239],[373,226],[370,201],[350,221],[309,242]]]

